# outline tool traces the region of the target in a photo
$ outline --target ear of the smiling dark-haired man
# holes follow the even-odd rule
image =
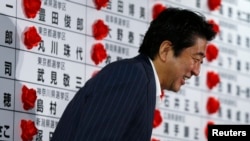
[[[159,57],[162,61],[166,61],[167,56],[172,49],[172,43],[169,40],[165,40],[161,43],[159,48]]]

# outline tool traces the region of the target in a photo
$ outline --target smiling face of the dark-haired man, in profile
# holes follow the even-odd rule
[[[173,50],[168,54],[165,62],[165,76],[161,82],[163,89],[177,92],[191,76],[198,76],[200,66],[205,57],[207,40],[197,38],[195,45],[184,49],[178,57]]]

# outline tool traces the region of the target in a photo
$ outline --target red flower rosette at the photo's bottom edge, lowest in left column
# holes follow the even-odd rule
[[[38,129],[32,120],[21,120],[22,134],[21,138],[23,141],[32,141],[33,136],[38,133]]]

